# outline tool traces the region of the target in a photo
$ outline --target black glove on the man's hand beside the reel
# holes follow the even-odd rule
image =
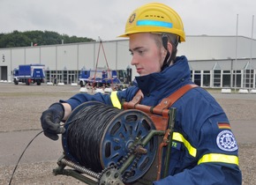
[[[64,106],[61,103],[52,104],[41,114],[41,128],[46,137],[57,140],[57,134],[63,134],[65,129],[60,125],[64,118]]]

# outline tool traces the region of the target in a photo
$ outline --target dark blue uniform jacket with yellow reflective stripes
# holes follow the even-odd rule
[[[116,100],[130,101],[140,89],[144,94],[140,104],[156,106],[183,85],[192,84],[190,75],[186,57],[179,56],[176,63],[162,72],[136,77],[135,85],[116,93]],[[112,93],[79,93],[61,102],[69,103],[72,109],[89,100],[115,106],[112,96]],[[172,107],[177,108],[177,117],[169,176],[154,184],[242,184],[237,142],[227,116],[215,99],[198,87],[185,93]]]

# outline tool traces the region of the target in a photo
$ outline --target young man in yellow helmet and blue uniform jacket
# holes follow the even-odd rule
[[[185,56],[176,56],[178,42],[185,41],[184,27],[176,11],[164,4],[146,4],[133,11],[125,33],[129,37],[132,65],[139,77],[135,85],[109,95],[79,93],[49,107],[41,115],[44,134],[56,140],[64,133],[59,122],[75,107],[90,100],[121,107],[140,90],[140,104],[154,107],[184,85],[193,84]],[[193,88],[177,100],[169,176],[154,184],[241,184],[237,143],[222,107],[207,91]],[[223,126],[224,125],[224,126]]]

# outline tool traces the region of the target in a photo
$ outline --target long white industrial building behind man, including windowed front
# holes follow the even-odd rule
[[[111,70],[132,68],[127,40],[95,41],[24,48],[0,48],[0,79],[12,81],[12,70],[19,64],[46,66],[48,82],[78,82],[80,70],[95,67]],[[186,55],[192,81],[202,87],[255,88],[256,40],[244,36],[187,36],[177,55]]]

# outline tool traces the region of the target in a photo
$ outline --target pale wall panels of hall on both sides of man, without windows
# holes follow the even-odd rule
[[[50,71],[49,80],[56,73],[60,80],[64,79],[63,73],[66,78],[72,76],[72,80],[76,80],[73,78],[78,78],[79,70],[94,70],[96,65],[111,70],[132,68],[132,78],[137,75],[131,65],[128,40],[0,48],[0,55],[0,68],[3,67],[0,77],[6,76],[7,67],[8,80],[12,78],[11,71],[19,64],[29,63],[45,64],[46,70]],[[251,57],[250,63],[255,70],[256,41],[243,36],[187,36],[186,41],[178,45],[177,55],[187,56],[192,71],[243,70]]]

